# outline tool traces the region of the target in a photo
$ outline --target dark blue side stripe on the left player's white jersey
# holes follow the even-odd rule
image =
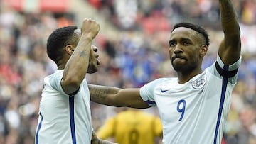
[[[71,128],[71,135],[72,135],[72,143],[76,144],[75,139],[75,117],[74,117],[74,99],[75,96],[69,97],[69,105],[70,105],[70,128]]]

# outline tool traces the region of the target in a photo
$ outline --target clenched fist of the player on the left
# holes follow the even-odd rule
[[[91,18],[85,18],[82,21],[81,33],[82,35],[89,35],[92,39],[95,38],[100,31],[100,24]]]

